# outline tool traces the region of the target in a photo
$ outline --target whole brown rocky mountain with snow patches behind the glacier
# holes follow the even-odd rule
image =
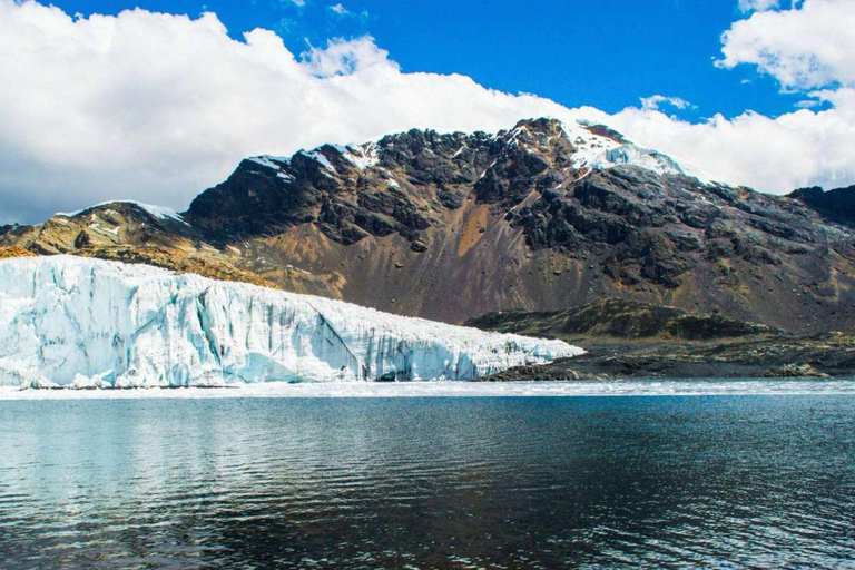
[[[855,236],[842,220],[551,119],[248,158],[180,215],[100,205],[8,228],[0,246],[452,323],[605,296],[800,333],[855,323]]]

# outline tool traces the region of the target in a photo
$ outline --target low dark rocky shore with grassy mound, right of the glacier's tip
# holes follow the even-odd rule
[[[621,299],[556,313],[484,315],[468,324],[557,337],[587,353],[482,381],[855,376],[855,336],[800,336],[716,314]]]

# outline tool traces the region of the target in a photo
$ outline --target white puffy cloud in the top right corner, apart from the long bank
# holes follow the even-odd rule
[[[755,12],[734,22],[721,41],[718,66],[757,66],[785,89],[855,82],[852,0],[805,0],[788,10]]]

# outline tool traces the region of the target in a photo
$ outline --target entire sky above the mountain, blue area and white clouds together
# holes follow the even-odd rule
[[[0,0],[0,223],[537,116],[761,191],[852,185],[853,52],[853,0]]]

